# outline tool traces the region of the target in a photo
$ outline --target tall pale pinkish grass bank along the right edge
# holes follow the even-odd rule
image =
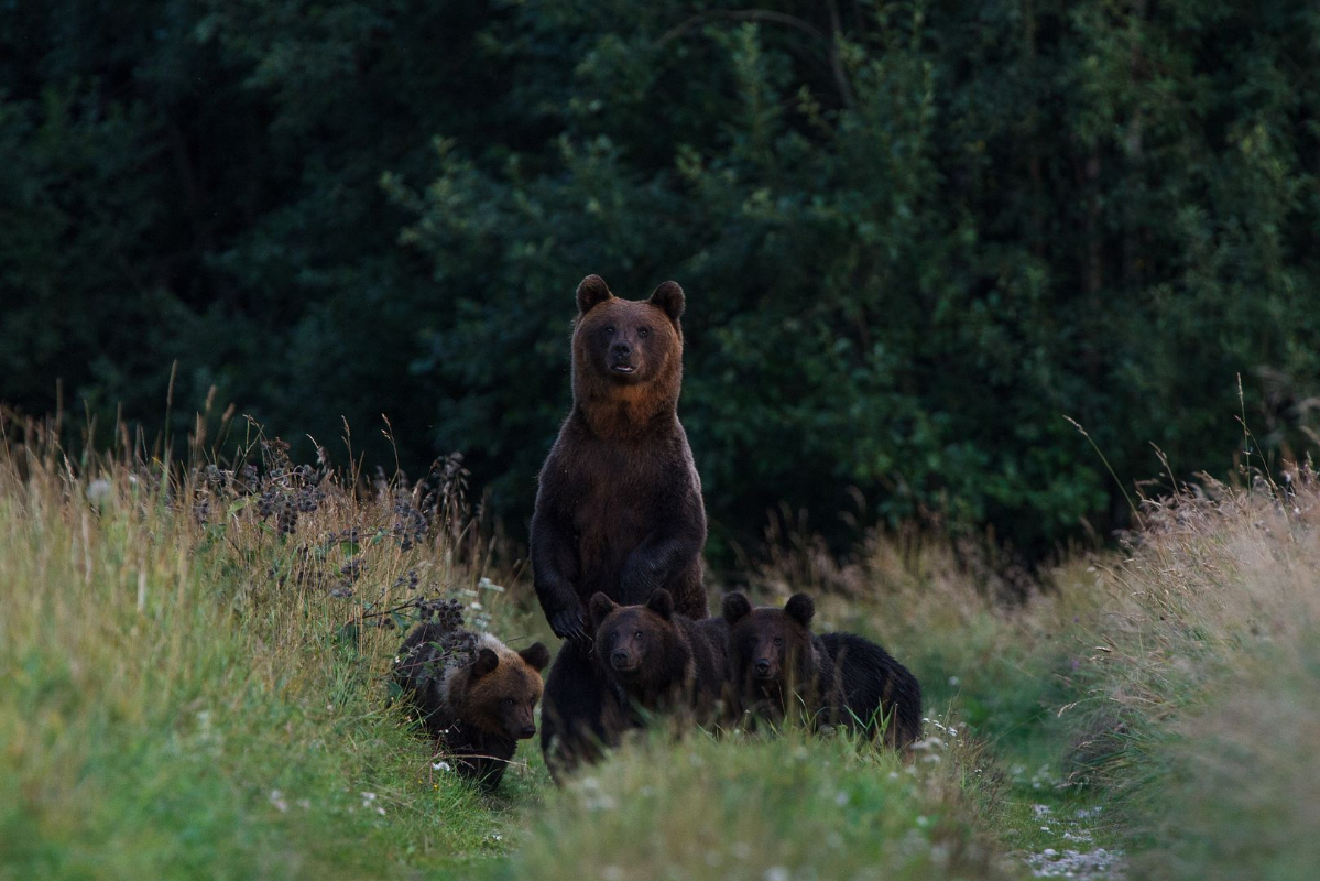
[[[1315,877],[1320,487],[1206,481],[1144,520],[1107,575],[1078,774],[1127,811],[1137,877]]]

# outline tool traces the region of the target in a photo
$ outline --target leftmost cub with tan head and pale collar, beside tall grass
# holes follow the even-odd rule
[[[463,777],[499,786],[517,741],[536,734],[541,670],[550,651],[513,651],[490,634],[426,621],[399,647],[395,682],[438,748]]]

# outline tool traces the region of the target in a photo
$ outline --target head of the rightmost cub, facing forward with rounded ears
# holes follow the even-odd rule
[[[816,604],[795,593],[783,609],[752,609],[742,593],[725,594],[729,662],[739,688],[756,693],[803,691],[814,683],[817,660],[812,645]]]

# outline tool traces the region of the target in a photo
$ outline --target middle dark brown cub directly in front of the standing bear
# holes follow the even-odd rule
[[[645,605],[620,606],[591,597],[595,663],[632,724],[644,713],[680,711],[715,719],[729,679],[729,626],[723,618],[693,621],[673,610],[660,588]],[[640,711],[640,712],[639,712]]]

